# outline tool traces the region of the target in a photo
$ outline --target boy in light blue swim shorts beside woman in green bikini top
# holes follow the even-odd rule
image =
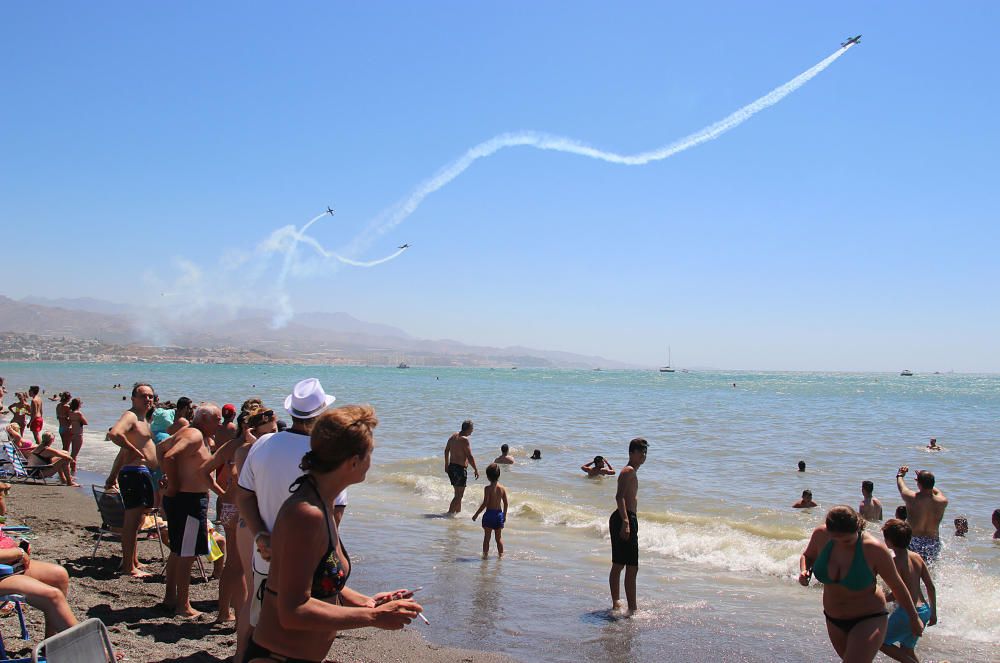
[[[882,527],[882,536],[885,537],[885,544],[895,555],[893,563],[896,565],[896,570],[899,571],[899,577],[903,579],[903,584],[910,591],[920,621],[927,626],[934,626],[937,623],[937,593],[934,589],[934,582],[931,580],[930,571],[927,570],[927,564],[923,557],[912,550],[907,550],[910,539],[913,537],[913,530],[902,520],[892,518]],[[929,602],[920,591],[921,581],[927,588]],[[914,649],[916,649],[919,639],[910,628],[910,616],[901,607],[897,607],[889,615],[885,641],[880,649],[883,654],[894,660],[916,661],[917,656]]]

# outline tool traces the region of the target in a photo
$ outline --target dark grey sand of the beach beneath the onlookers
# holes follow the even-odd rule
[[[89,491],[89,486],[86,487]],[[112,643],[129,661],[228,661],[236,646],[232,626],[213,624],[218,582],[203,582],[197,574],[191,581],[191,601],[205,614],[182,620],[158,610],[163,576],[145,581],[125,579],[115,572],[120,544],[101,544],[91,557],[100,519],[94,500],[80,490],[57,486],[15,485],[8,498],[7,521],[32,528],[35,559],[56,562],[70,574],[69,602],[77,619],[98,617],[107,625]],[[155,541],[140,542],[140,558],[150,570],[159,571],[159,549]],[[209,573],[211,568],[208,569]],[[364,588],[361,588],[364,589]],[[17,617],[0,619],[4,642],[11,657],[29,656],[43,636],[42,613],[26,606],[30,640],[18,637]],[[413,661],[429,663],[462,661],[500,663],[513,659],[496,654],[436,646],[418,632],[417,622],[403,631],[377,629],[345,631],[338,636],[327,660]]]

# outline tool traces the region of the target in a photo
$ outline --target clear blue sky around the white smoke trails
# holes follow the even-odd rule
[[[814,5],[3,3],[0,291],[285,295],[650,366],[1000,371],[1000,5]],[[654,149],[858,33],[714,141],[506,149],[354,242],[492,136]],[[261,243],[328,204],[328,249],[412,247],[300,244],[282,281]]]

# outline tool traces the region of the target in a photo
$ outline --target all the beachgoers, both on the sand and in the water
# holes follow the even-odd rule
[[[120,385],[115,385],[120,388]],[[77,456],[88,425],[83,402],[63,391],[55,416],[61,449],[45,431],[44,392],[30,386],[4,405],[0,378],[0,415],[9,414],[0,454],[5,477],[76,482]],[[140,530],[152,529],[168,544],[163,598],[159,607],[181,619],[200,618],[189,598],[191,573],[202,557],[216,560],[216,621],[235,622],[234,661],[322,661],[339,631],[372,626],[401,629],[423,619],[414,590],[388,589],[368,596],[349,586],[351,559],[339,536],[350,486],[365,481],[378,425],[367,405],[334,407],[319,380],[304,379],[282,403],[285,424],[259,398],[239,407],[179,397],[161,401],[152,385],[131,388],[129,408],[107,431],[118,448],[104,484],[106,499],[120,499],[120,572],[153,575],[139,559]],[[479,468],[472,451],[472,421],[466,420],[444,447],[444,474],[454,488],[448,506],[460,514],[468,469]],[[638,610],[638,472],[649,443],[635,438],[627,445],[628,462],[615,470],[603,456],[581,466],[587,477],[617,475],[614,509],[608,529],[611,568],[608,584],[612,614],[627,617]],[[937,447],[932,440],[929,448]],[[932,449],[933,450],[933,449]],[[532,459],[540,460],[535,450]],[[19,462],[23,461],[23,462]],[[482,515],[482,554],[495,544],[504,554],[503,529],[510,495],[500,483],[502,467],[515,462],[507,445],[490,463],[475,521]],[[805,472],[805,462],[799,463]],[[858,508],[834,506],[812,532],[799,560],[798,580],[823,583],[823,612],[834,650],[844,661],[872,661],[881,651],[898,661],[917,661],[916,645],[925,626],[938,619],[932,571],[941,551],[941,523],[948,500],[935,476],[916,473],[915,490],[907,485],[909,468],[896,473],[904,506],[884,522],[882,538],[867,531],[883,520],[874,484],[863,481]],[[9,484],[0,483],[0,515],[6,512]],[[795,508],[815,508],[803,491]],[[214,512],[214,522],[209,519]],[[162,519],[161,516],[162,515]],[[1000,509],[992,514],[1000,538]],[[165,526],[163,522],[165,521]],[[966,536],[968,523],[955,519],[955,535]],[[31,557],[30,546],[0,533],[0,594],[21,594],[45,615],[46,635],[76,623],[67,601],[71,578],[57,564]],[[627,605],[620,599],[621,576]],[[888,588],[884,592],[877,582]],[[896,608],[890,612],[889,603]]]

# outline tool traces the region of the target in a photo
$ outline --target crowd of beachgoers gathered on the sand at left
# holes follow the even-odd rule
[[[0,414],[5,393],[0,379]],[[18,395],[10,443],[74,485],[87,425],[81,402],[68,392],[51,399],[59,403],[60,452],[43,431],[43,393],[33,386]],[[106,439],[119,448],[105,498],[119,495],[124,509],[121,572],[152,575],[139,559],[137,537],[150,522],[158,528],[162,514],[159,535],[170,555],[160,605],[198,617],[188,594],[192,566],[202,556],[218,557],[217,621],[236,622],[234,660],[323,660],[337,631],[399,629],[422,610],[409,590],[366,596],[347,584],[351,562],[338,525],[347,487],[365,480],[378,420],[369,406],[334,408],[334,400],[319,380],[297,383],[283,403],[291,419],[285,425],[259,398],[239,409],[187,397],[161,402],[151,385],[136,383],[131,407],[108,430]],[[35,444],[25,440],[25,428]],[[76,623],[65,569],[33,562],[25,547],[7,543],[0,538],[0,564],[15,564],[16,573],[0,578],[0,593],[25,595],[45,613],[47,631]]]

